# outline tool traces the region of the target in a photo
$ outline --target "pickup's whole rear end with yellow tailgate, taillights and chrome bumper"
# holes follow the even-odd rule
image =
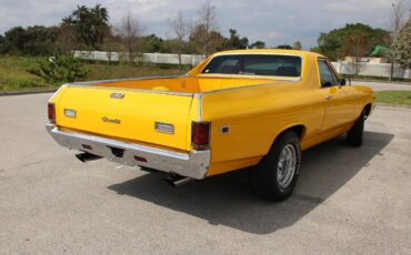
[[[210,165],[210,124],[194,93],[68,84],[49,101],[48,132],[83,160],[106,157],[191,178]]]

